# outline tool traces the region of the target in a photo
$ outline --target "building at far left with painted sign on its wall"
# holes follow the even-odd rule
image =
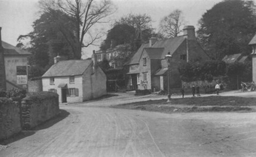
[[[4,53],[6,89],[27,89],[27,57],[32,54],[26,50],[22,50],[11,44],[5,43],[1,39],[0,41],[2,45],[2,52]]]

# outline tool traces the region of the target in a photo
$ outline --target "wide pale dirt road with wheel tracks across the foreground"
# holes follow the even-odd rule
[[[61,105],[60,117],[24,132],[0,156],[256,156],[255,113],[104,107],[129,99],[118,98]]]

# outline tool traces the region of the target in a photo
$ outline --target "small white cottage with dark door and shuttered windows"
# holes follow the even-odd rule
[[[59,102],[82,102],[106,94],[106,75],[92,59],[62,60],[42,76],[43,91],[56,92]]]

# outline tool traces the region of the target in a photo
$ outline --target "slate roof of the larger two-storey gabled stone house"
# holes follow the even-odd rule
[[[130,59],[129,62],[126,63],[126,65],[139,64],[139,59],[141,58],[142,52],[146,48],[164,49],[163,52],[161,52],[160,50],[157,49],[158,52],[161,52],[161,57],[157,56],[158,59],[164,58],[164,56],[166,56],[168,52],[170,52],[171,55],[173,55],[173,53],[177,50],[177,48],[180,46],[180,44],[182,44],[183,41],[185,41],[185,40],[186,39],[184,36],[179,36],[179,37],[173,37],[173,38],[166,39],[166,40],[156,41],[151,47],[149,47],[149,44],[142,44],[142,46],[139,47],[139,50],[135,53],[135,55],[133,55],[132,59]]]

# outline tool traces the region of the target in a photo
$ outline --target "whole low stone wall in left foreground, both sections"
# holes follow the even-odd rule
[[[59,112],[58,95],[52,92],[30,94],[21,102],[0,98],[0,140],[38,126]]]

